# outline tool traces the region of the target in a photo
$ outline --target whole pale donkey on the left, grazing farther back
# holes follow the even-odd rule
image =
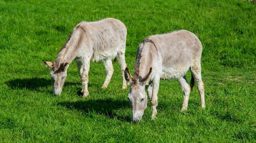
[[[127,87],[124,77],[126,35],[126,26],[114,18],[77,24],[67,42],[58,52],[55,62],[44,61],[47,67],[52,67],[50,72],[52,91],[57,95],[61,94],[67,76],[67,68],[74,59],[82,81],[83,97],[87,97],[89,94],[88,72],[90,61],[103,61],[107,75],[102,88],[106,88],[114,72],[111,60],[116,58],[121,65],[122,87],[125,89]]]

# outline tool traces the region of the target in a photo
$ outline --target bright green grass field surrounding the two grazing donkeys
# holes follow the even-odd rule
[[[189,30],[203,45],[206,108],[196,87],[180,113],[182,90],[161,80],[157,119],[150,102],[139,124],[130,122],[118,63],[107,89],[103,64],[91,63],[88,98],[72,62],[59,96],[50,69],[70,31],[106,17],[127,27],[126,63],[149,35]],[[247,0],[1,0],[0,142],[256,142],[256,5]],[[190,79],[190,72],[187,78]]]

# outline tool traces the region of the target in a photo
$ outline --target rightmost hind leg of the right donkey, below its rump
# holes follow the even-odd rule
[[[201,107],[205,108],[204,83],[202,81],[200,63],[198,65],[193,65],[190,70],[191,70],[191,73],[192,73],[193,77],[195,78],[195,81],[196,81],[197,86],[198,86],[198,91],[200,93],[200,99],[201,99]]]

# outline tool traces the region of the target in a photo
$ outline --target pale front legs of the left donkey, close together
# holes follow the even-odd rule
[[[80,61],[79,59],[75,60],[76,65],[78,67],[79,70],[79,75],[82,81],[82,93],[83,93],[83,98],[87,97],[89,95],[89,91],[88,91],[88,81],[89,81],[89,77],[88,77],[88,73],[90,70],[90,61]]]

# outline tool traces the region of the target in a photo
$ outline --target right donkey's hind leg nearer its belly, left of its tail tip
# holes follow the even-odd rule
[[[182,91],[183,91],[183,104],[181,108],[182,111],[186,111],[189,104],[189,93],[191,91],[191,87],[189,86],[188,82],[186,81],[186,76],[183,76],[182,78],[178,79],[180,82]]]

